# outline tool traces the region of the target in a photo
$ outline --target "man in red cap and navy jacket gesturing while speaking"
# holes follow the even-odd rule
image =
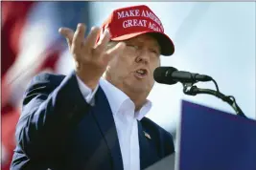
[[[139,170],[174,153],[172,136],[145,117],[160,54],[175,51],[158,17],[134,6],[113,11],[86,38],[83,24],[59,32],[75,71],[32,80],[12,169]]]

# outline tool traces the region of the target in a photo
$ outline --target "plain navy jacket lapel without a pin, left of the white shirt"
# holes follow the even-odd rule
[[[114,118],[108,100],[101,87],[99,87],[95,94],[95,106],[92,107],[92,113],[98,122],[105,138],[105,142],[109,148],[113,160],[113,169],[124,169]]]

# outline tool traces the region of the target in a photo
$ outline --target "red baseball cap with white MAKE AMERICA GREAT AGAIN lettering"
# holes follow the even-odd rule
[[[162,55],[167,56],[175,53],[175,45],[171,38],[164,33],[160,19],[145,5],[112,11],[105,20],[97,41],[105,29],[109,31],[112,41],[123,41],[144,33],[150,33],[158,41]]]

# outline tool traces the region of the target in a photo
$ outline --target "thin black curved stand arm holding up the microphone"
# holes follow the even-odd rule
[[[221,94],[219,91],[218,85],[214,79],[212,79],[213,82],[216,85],[217,91],[211,90],[211,89],[200,89],[197,86],[194,85],[197,81],[194,83],[182,83],[183,84],[183,93],[185,95],[189,96],[196,96],[198,94],[208,94],[212,96],[217,96],[218,98],[221,98],[221,100],[227,102],[236,112],[238,116],[246,117],[243,113],[243,111],[240,109],[238,104],[236,103],[236,99],[234,96],[225,96]]]

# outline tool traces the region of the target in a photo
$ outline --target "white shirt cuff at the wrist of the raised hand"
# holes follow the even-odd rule
[[[77,74],[76,76],[77,76],[79,88],[81,91],[81,95],[84,97],[87,103],[89,103],[91,106],[94,106],[95,105],[94,96],[99,88],[99,84],[97,84],[96,88],[92,92],[92,90],[81,81],[81,78]]]

